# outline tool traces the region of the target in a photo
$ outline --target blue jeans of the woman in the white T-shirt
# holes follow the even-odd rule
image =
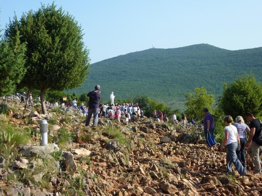
[[[247,171],[238,160],[238,157],[236,155],[237,147],[238,147],[238,142],[233,142],[231,144],[226,145],[227,148],[226,165],[227,165],[227,171],[232,172],[232,163],[233,163],[234,166],[236,167],[236,170],[238,170],[238,173],[241,175],[246,173]]]

